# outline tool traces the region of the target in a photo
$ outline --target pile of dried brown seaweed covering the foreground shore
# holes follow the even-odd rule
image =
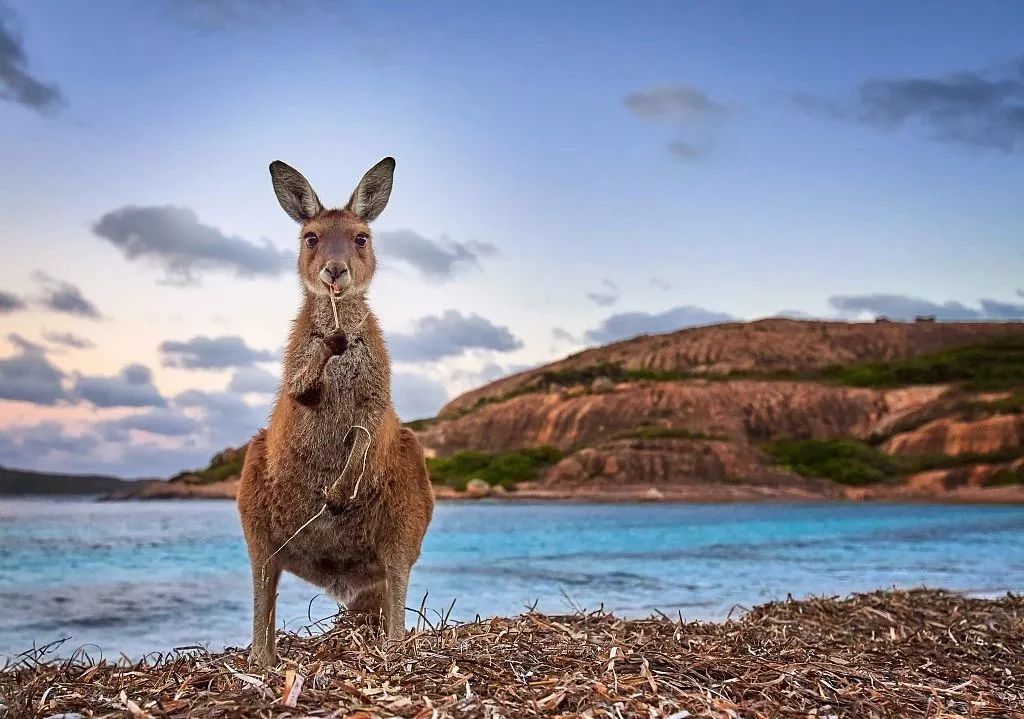
[[[1024,716],[1020,596],[878,592],[723,624],[530,614],[388,646],[342,619],[280,650],[269,673],[242,650],[130,666],[25,657],[0,674],[0,702],[8,717],[136,719]]]

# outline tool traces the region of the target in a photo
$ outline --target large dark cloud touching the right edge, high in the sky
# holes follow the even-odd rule
[[[806,94],[793,99],[809,112],[881,129],[915,125],[941,142],[1024,151],[1024,56],[981,71],[866,80],[850,103]]]

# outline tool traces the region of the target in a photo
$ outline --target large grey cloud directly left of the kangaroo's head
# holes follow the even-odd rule
[[[196,284],[200,274],[214,270],[240,278],[274,277],[294,262],[291,253],[268,241],[225,235],[185,207],[122,207],[100,217],[92,231],[129,260],[162,269],[163,280],[174,285]]]

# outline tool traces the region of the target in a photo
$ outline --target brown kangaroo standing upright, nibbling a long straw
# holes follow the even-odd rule
[[[409,575],[433,514],[423,448],[391,405],[391,364],[366,292],[376,269],[370,222],[391,196],[394,160],[371,168],[342,209],[270,165],[285,212],[301,225],[302,305],[270,421],[252,438],[239,512],[253,574],[250,661],[276,663],[285,569],[339,604],[406,631]]]

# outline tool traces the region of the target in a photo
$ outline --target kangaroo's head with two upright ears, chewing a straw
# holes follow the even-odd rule
[[[384,158],[362,176],[345,207],[328,210],[302,174],[281,162],[270,163],[278,201],[299,231],[299,277],[313,295],[343,296],[365,292],[377,261],[370,223],[391,197],[394,158]]]

